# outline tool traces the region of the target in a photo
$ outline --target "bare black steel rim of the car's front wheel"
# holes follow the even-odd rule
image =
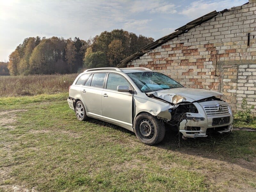
[[[139,126],[140,135],[144,140],[151,140],[154,137],[155,127],[149,119],[142,119]]]

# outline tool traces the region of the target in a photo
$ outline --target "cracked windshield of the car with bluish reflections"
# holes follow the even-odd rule
[[[183,87],[172,78],[157,72],[127,73],[142,92],[152,92],[164,89]]]

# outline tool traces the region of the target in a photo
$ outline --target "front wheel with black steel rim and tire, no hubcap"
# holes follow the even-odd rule
[[[155,145],[164,139],[163,121],[148,113],[139,114],[134,121],[134,132],[137,138],[147,145]]]

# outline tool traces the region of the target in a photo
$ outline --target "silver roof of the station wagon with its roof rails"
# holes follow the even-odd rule
[[[84,71],[84,73],[90,72],[90,71],[93,71],[93,72],[119,71],[119,72],[123,72],[123,73],[150,72],[150,71],[153,72],[151,69],[143,68],[143,67],[140,67],[140,68],[136,68],[136,67],[133,67],[133,68],[106,67],[106,68],[86,69]]]

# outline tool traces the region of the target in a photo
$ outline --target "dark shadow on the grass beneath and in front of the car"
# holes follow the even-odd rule
[[[89,121],[99,126],[106,126],[116,131],[124,132],[127,135],[131,135],[131,140],[134,139],[135,133],[127,129],[96,119],[90,119]],[[161,148],[170,152],[175,151],[192,156],[226,161],[228,163],[237,164],[245,169],[256,171],[256,158],[252,157],[251,159],[246,159],[244,156],[241,156],[242,149],[239,143],[236,144],[237,137],[240,136],[236,136],[233,131],[232,133],[222,134],[211,133],[207,137],[186,138],[184,140],[182,134],[179,134],[179,132],[166,129],[164,140],[152,147]],[[247,140],[244,142],[250,141]],[[230,147],[230,144],[232,144],[232,147]],[[241,159],[243,159],[242,163],[240,162]]]

